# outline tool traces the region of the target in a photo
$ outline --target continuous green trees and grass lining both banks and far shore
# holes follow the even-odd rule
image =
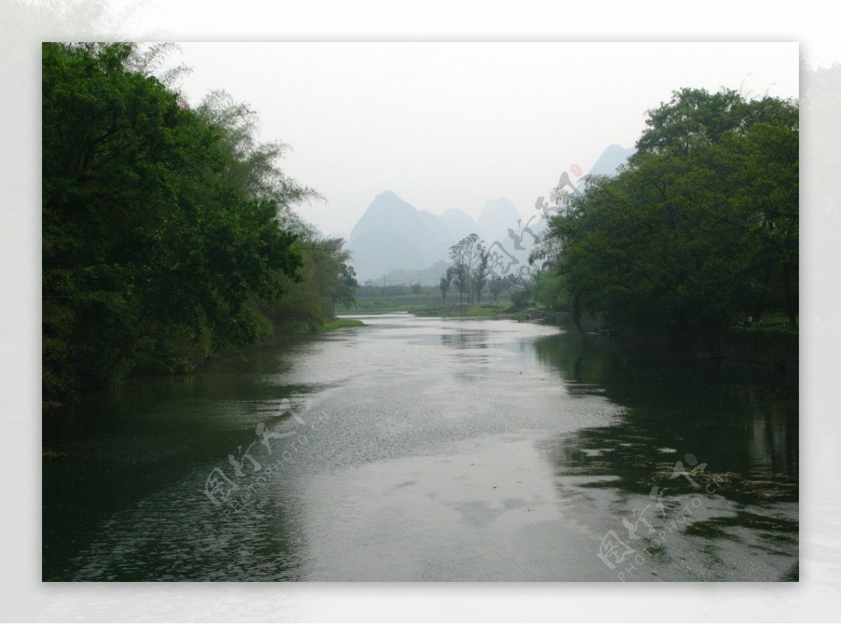
[[[436,287],[397,293],[358,288],[345,241],[295,213],[318,194],[278,167],[286,146],[259,142],[257,114],[224,92],[188,106],[177,70],[158,71],[165,53],[43,46],[45,400],[351,322],[337,311],[537,306],[643,338],[796,346],[796,102],[676,91],[616,177],[553,198],[532,278],[503,288],[468,235]]]

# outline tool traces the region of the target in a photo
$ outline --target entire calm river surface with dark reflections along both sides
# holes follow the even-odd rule
[[[43,422],[45,580],[796,580],[796,373],[383,315]]]

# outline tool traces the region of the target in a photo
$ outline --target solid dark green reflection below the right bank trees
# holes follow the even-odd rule
[[[574,330],[535,348],[563,374],[569,394],[599,394],[626,408],[614,426],[548,444],[559,473],[616,475],[621,487],[636,490],[693,453],[748,498],[796,497],[796,376],[621,351],[610,338]]]

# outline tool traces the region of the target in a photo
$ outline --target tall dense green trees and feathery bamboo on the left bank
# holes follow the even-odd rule
[[[357,286],[316,193],[223,92],[189,108],[165,46],[43,45],[43,394],[177,373],[276,331],[317,329]]]

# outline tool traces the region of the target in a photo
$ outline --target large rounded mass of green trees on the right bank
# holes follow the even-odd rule
[[[772,313],[796,325],[798,113],[690,88],[648,111],[616,177],[556,193],[530,258],[536,298],[637,334],[720,335]]]

